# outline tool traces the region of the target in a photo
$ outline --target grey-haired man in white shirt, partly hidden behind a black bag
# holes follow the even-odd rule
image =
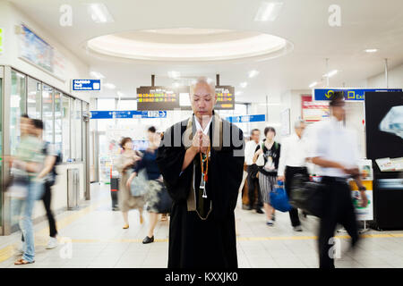
[[[308,169],[306,168],[306,143],[303,139],[304,121],[295,122],[294,128],[296,132],[282,142],[279,158],[278,180],[284,181],[288,198],[290,198],[291,183],[296,174],[302,174],[306,180],[309,180]],[[289,218],[294,231],[302,231],[298,209],[292,208],[289,211]]]

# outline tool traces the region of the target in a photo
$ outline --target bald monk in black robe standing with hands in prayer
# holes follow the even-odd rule
[[[244,176],[244,135],[214,112],[213,83],[191,85],[193,115],[167,129],[157,162],[174,203],[169,268],[236,268],[234,210]]]

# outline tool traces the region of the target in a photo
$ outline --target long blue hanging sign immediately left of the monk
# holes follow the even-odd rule
[[[167,118],[167,112],[161,110],[152,111],[138,111],[138,110],[124,110],[124,111],[91,111],[90,119],[113,119],[113,118]]]

